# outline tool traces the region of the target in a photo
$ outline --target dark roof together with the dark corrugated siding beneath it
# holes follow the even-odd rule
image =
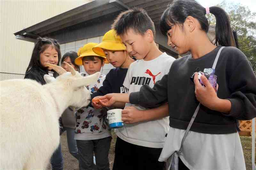
[[[60,44],[104,35],[111,28],[114,18],[132,7],[148,12],[156,25],[156,43],[172,56],[177,52],[167,46],[167,38],[159,31],[159,20],[167,5],[173,0],[94,0],[77,8],[46,19],[40,23],[15,32],[16,39],[36,42],[36,38],[51,37]]]

